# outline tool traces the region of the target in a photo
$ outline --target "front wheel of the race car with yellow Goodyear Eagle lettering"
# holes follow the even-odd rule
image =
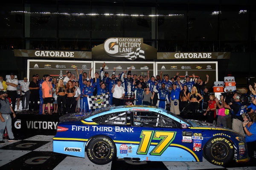
[[[230,139],[216,136],[210,139],[204,147],[204,158],[215,165],[225,165],[234,158],[234,147]]]

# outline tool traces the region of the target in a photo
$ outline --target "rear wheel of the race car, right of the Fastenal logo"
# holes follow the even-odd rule
[[[116,145],[106,136],[95,136],[86,148],[87,157],[94,164],[108,164],[116,157]]]

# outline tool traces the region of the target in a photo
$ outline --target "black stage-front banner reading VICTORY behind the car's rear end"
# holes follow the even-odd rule
[[[16,118],[16,121],[12,121],[14,133],[40,131],[42,134],[49,135],[56,133],[59,123],[59,115],[17,114]]]

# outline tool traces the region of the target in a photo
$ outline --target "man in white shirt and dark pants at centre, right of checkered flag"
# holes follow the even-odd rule
[[[112,104],[116,106],[122,106],[122,98],[125,96],[125,89],[121,86],[122,81],[120,79],[117,80],[116,85],[113,85],[111,92],[113,93]]]

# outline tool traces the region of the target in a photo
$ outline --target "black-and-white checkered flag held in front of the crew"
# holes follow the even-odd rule
[[[109,106],[108,97],[109,95],[107,93],[102,95],[96,95],[96,96],[88,96],[87,101],[88,101],[89,109],[99,109],[103,107],[108,107]]]

